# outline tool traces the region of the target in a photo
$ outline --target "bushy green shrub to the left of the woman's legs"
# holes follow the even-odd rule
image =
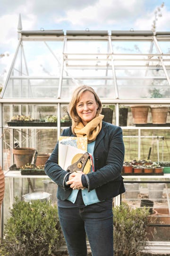
[[[54,256],[64,243],[57,206],[48,201],[19,201],[16,198],[11,217],[0,244],[1,256]]]

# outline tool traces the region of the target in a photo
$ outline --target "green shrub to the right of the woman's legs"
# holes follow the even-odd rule
[[[114,256],[140,256],[147,245],[149,210],[126,203],[113,208]]]

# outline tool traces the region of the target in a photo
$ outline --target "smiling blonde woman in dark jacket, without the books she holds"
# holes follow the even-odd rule
[[[102,103],[93,88],[80,86],[69,103],[72,128],[62,136],[87,137],[94,172],[70,174],[58,165],[58,143],[45,173],[58,184],[58,212],[70,256],[113,256],[112,198],[125,192],[121,169],[124,143],[120,127],[102,121]]]

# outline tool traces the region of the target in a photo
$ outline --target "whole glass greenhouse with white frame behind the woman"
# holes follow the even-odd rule
[[[113,204],[123,201],[140,208],[142,201],[152,201],[151,215],[158,220],[151,227],[154,234],[148,231],[150,247],[169,253],[170,32],[25,31],[19,20],[17,33],[18,46],[0,95],[5,175],[1,237],[16,196],[23,201],[27,194],[46,192],[56,203],[57,185],[45,175],[44,163],[36,161],[48,159],[62,130],[71,126],[68,103],[75,88],[85,84],[99,95],[104,120],[123,130],[126,192]],[[17,164],[18,147],[34,149],[32,170]],[[145,172],[146,165],[152,171]]]

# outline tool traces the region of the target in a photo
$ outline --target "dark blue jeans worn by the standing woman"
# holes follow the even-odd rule
[[[58,211],[69,256],[87,255],[86,235],[93,256],[113,256],[112,209],[91,204]]]

